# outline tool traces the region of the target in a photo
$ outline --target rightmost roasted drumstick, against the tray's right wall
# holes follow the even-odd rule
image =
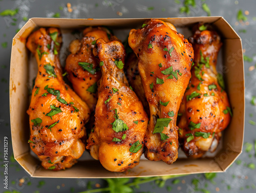
[[[216,70],[222,45],[220,36],[215,31],[200,31],[198,25],[195,28],[189,38],[195,51],[195,65],[182,100],[178,124],[181,147],[191,158],[202,157],[209,149],[215,151],[220,132],[227,127],[231,114],[222,75]]]

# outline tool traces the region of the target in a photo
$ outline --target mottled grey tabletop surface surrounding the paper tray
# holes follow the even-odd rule
[[[16,30],[21,28],[25,22],[23,17],[52,17],[56,12],[60,13],[60,17],[66,18],[131,18],[131,17],[181,17],[187,16],[186,14],[180,14],[179,8],[182,5],[176,4],[174,1],[122,1],[114,0],[112,1],[112,6],[108,3],[109,1],[53,1],[53,0],[0,0],[0,12],[5,9],[15,9],[19,8],[19,14],[15,17],[17,22],[16,25],[10,24],[11,17],[0,17],[0,44],[7,42],[7,48],[0,46],[0,101],[1,101],[1,111],[0,111],[0,161],[3,163],[3,141],[4,136],[9,138],[9,155],[12,154],[11,147],[11,132],[10,132],[10,117],[9,117],[9,66],[10,66],[10,55],[11,55],[11,41],[12,37],[15,35]],[[183,1],[181,1],[182,3]],[[191,8],[191,13],[188,16],[206,16],[206,13],[201,9],[201,1],[196,1],[197,7]],[[221,15],[229,22],[229,24],[237,31],[241,29],[246,29],[246,33],[239,33],[243,40],[245,55],[252,57],[252,62],[245,62],[245,91],[246,91],[246,111],[245,111],[245,142],[253,143],[256,138],[256,126],[248,123],[249,120],[256,121],[256,107],[250,104],[251,97],[256,96],[256,70],[249,71],[250,66],[255,65],[256,61],[256,15],[255,7],[256,2],[254,0],[206,0],[205,1],[210,10],[211,15]],[[76,7],[72,13],[67,11],[66,4],[71,3],[72,7]],[[95,4],[98,4],[96,7]],[[59,6],[64,9],[59,10]],[[153,10],[148,10],[148,7],[154,7]],[[163,8],[165,10],[163,10]],[[237,22],[237,11],[242,9],[243,11],[248,10],[249,15],[247,25],[236,25]],[[117,12],[122,12],[122,16],[119,16]],[[249,44],[248,42],[251,42]],[[246,47],[245,47],[246,46]],[[249,116],[250,115],[250,116]],[[244,147],[245,150],[245,147]],[[216,188],[220,189],[219,192],[255,192],[252,184],[256,185],[255,170],[249,169],[246,165],[249,163],[256,163],[254,152],[252,148],[251,152],[243,152],[239,157],[242,160],[240,165],[234,163],[226,171],[226,173],[217,174],[217,178],[214,179],[216,183],[211,183],[210,181],[205,181],[203,175],[190,175],[185,177],[180,177],[180,183],[172,184],[172,180],[166,182],[165,187],[159,188],[154,183],[143,184],[140,189],[136,189],[135,192],[168,192],[166,186],[172,186],[173,192],[187,192],[188,187],[191,185],[191,179],[195,177],[202,177],[202,183],[200,183],[200,188],[206,188],[210,192],[217,192]],[[11,156],[10,156],[11,159]],[[2,165],[1,163],[1,165]],[[21,168],[17,162],[11,159],[9,165],[9,188],[12,190],[18,190],[20,192],[71,192],[71,188],[74,188],[74,192],[80,192],[87,190],[88,181],[93,181],[104,186],[103,180],[95,179],[36,179],[30,178],[29,175]],[[1,181],[0,181],[0,191],[4,192],[3,188],[3,170],[1,167]],[[19,186],[19,179],[24,178],[26,182]],[[28,185],[27,182],[31,185]],[[41,187],[38,187],[39,182],[45,183]],[[41,182],[41,183],[42,183]],[[30,184],[29,183],[29,184]],[[205,185],[205,183],[207,185]],[[207,187],[205,187],[207,186]],[[228,190],[230,186],[230,190]],[[92,186],[95,188],[95,185]],[[218,190],[217,188],[217,190]]]

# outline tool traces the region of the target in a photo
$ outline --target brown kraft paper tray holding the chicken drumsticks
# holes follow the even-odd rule
[[[191,35],[188,30],[198,22],[210,23],[222,37],[223,46],[219,54],[219,72],[223,73],[226,92],[231,103],[233,117],[223,132],[222,142],[215,154],[207,154],[202,159],[187,159],[179,151],[178,160],[167,165],[162,161],[153,162],[141,159],[140,164],[125,173],[112,173],[104,169],[100,162],[93,160],[88,152],[73,167],[52,171],[40,166],[40,161],[30,151],[29,117],[26,113],[29,103],[29,88],[36,76],[35,58],[30,56],[25,44],[28,35],[39,27],[58,27],[63,35],[63,46],[60,61],[63,65],[67,56],[68,45],[77,38],[71,32],[86,26],[108,26],[115,35],[124,39],[131,29],[138,29],[146,18],[132,19],[64,19],[64,18],[31,18],[15,35],[12,44],[10,67],[10,117],[14,158],[32,176],[40,178],[112,178],[112,177],[145,177],[209,173],[225,171],[242,152],[244,136],[244,64],[242,42],[238,34],[223,17],[183,17],[160,18],[172,23],[178,32],[186,38]],[[64,50],[64,51],[63,51]]]

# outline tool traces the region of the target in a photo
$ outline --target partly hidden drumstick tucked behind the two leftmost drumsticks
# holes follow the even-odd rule
[[[91,111],[95,110],[97,103],[96,85],[101,77],[99,64],[92,52],[95,42],[99,38],[109,41],[105,28],[86,28],[81,40],[76,39],[71,42],[69,46],[71,54],[67,57],[65,67],[74,91],[86,101]]]

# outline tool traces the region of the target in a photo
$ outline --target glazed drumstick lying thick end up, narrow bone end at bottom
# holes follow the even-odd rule
[[[131,30],[129,45],[139,58],[139,72],[150,105],[145,157],[172,164],[178,157],[177,114],[190,79],[191,44],[176,28],[158,19]]]

